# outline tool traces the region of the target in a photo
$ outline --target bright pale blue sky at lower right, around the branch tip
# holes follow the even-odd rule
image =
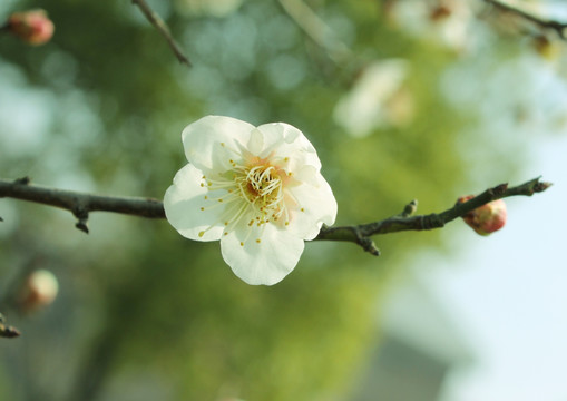
[[[566,150],[567,136],[535,141],[525,177],[554,186],[508,199],[501,232],[485,238],[463,225],[448,238],[458,251],[429,260],[434,291],[477,359],[442,401],[567,400]]]

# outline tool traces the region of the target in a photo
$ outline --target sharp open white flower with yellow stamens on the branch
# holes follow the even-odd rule
[[[182,139],[189,163],[165,194],[167,221],[189,239],[221,239],[224,261],[246,283],[278,283],[304,241],[334,223],[333,193],[297,128],[207,116]]]

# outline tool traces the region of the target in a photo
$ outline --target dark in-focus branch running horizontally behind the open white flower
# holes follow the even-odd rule
[[[429,215],[413,215],[418,203],[412,200],[401,214],[379,222],[349,226],[323,226],[315,239],[353,242],[362,246],[364,251],[378,256],[380,252],[371,239],[373,235],[441,228],[447,223],[457,217],[462,217],[470,211],[489,202],[510,196],[531,196],[546,190],[550,186],[550,183],[540,182],[539,178],[534,178],[510,188],[508,184],[500,184],[466,203],[456,204],[444,212]],[[28,177],[16,180],[0,179],[0,197],[10,197],[67,209],[77,217],[76,227],[85,233],[88,233],[87,219],[90,212],[113,212],[139,217],[165,218],[164,205],[158,199],[101,196],[49,188],[31,185]]]

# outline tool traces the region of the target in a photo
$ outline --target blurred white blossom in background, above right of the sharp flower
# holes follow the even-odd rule
[[[414,105],[411,92],[403,85],[408,71],[408,62],[401,59],[368,66],[336,104],[335,123],[353,137],[365,137],[377,128],[410,123]]]

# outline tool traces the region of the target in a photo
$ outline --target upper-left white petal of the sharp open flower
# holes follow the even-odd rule
[[[185,156],[205,175],[224,173],[231,169],[231,159],[242,158],[242,149],[254,129],[253,125],[236,118],[203,117],[183,130]]]

